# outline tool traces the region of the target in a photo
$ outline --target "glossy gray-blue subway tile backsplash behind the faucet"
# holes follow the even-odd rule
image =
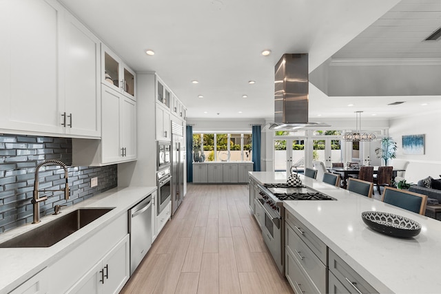
[[[68,165],[70,199],[79,203],[117,186],[117,165],[72,167],[72,139],[46,136],[0,134],[0,233],[32,222],[32,191],[35,167],[41,160],[57,159]],[[90,179],[98,177],[98,186]],[[64,170],[45,166],[39,172],[40,189],[62,189]],[[41,202],[40,215],[53,213],[54,205],[66,204],[62,192],[42,193],[50,196]]]

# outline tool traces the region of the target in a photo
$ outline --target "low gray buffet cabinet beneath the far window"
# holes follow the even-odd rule
[[[200,184],[247,183],[252,161],[193,162],[193,182]]]

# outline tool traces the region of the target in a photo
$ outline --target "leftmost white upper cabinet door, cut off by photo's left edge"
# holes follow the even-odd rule
[[[0,1],[0,128],[63,134],[57,1]],[[23,21],[25,20],[25,21]]]

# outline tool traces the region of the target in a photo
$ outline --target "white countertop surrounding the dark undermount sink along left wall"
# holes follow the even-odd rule
[[[25,224],[0,235],[0,243],[30,231],[51,220],[65,216],[67,213],[83,207],[114,207],[87,226],[64,238],[57,244],[46,248],[0,248],[0,294],[8,293],[14,288],[50,266],[60,256],[87,240],[105,225],[127,213],[127,210],[156,190],[156,187],[114,188],[96,195],[78,204],[63,207],[57,216],[44,216],[39,224]],[[128,228],[127,228],[128,230]]]

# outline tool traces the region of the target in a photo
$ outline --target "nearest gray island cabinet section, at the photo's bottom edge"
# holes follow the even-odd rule
[[[329,293],[335,292],[336,289],[343,286],[345,293],[378,293],[368,282],[366,282],[351,266],[344,262],[334,251],[329,249],[329,275],[334,274],[336,280],[331,284],[329,281]]]

